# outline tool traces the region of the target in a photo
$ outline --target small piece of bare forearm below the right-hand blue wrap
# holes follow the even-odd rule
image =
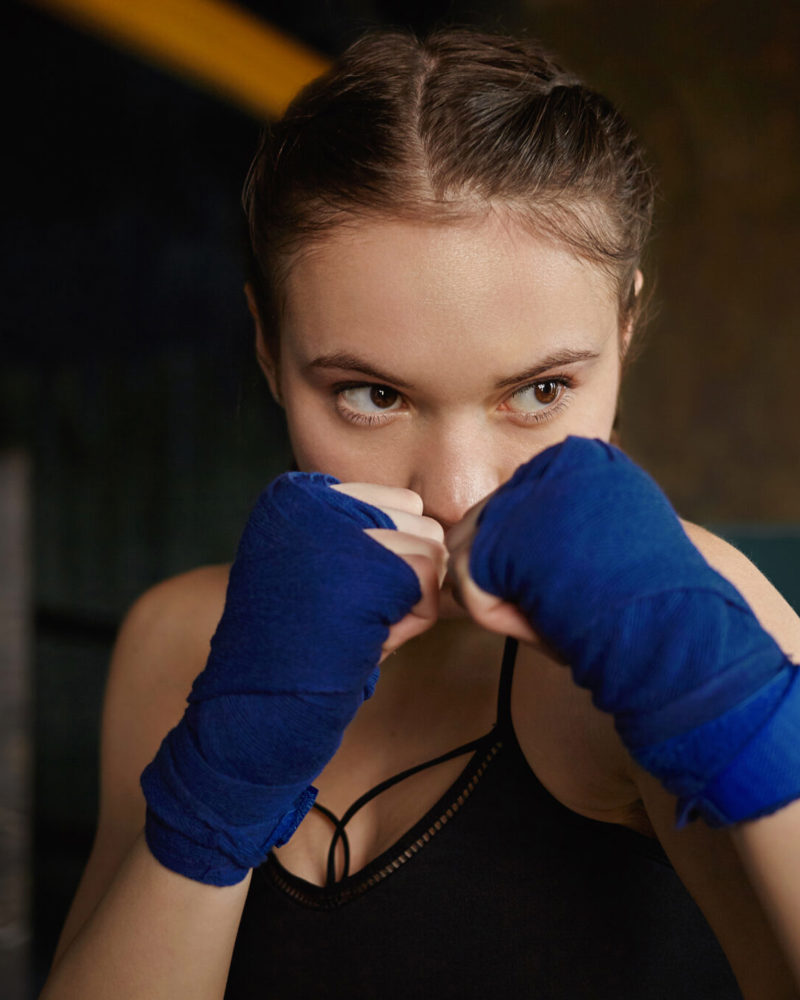
[[[800,987],[800,800],[732,835]]]

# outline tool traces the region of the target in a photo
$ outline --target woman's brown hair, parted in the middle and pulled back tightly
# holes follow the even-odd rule
[[[277,356],[293,261],[363,219],[504,211],[606,269],[628,326],[653,181],[620,113],[539,43],[463,28],[422,40],[379,30],[264,130],[243,203],[251,285]]]

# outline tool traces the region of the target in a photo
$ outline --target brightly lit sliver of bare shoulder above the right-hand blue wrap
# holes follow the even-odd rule
[[[786,655],[800,661],[800,618],[764,574],[719,536],[688,521],[683,522],[683,527],[708,563],[745,598]]]

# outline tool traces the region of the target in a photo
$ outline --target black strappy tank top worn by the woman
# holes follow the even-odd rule
[[[227,1000],[741,1000],[658,842],[579,816],[530,769],[511,723],[515,653],[509,640],[489,733],[341,822],[323,810],[346,845],[365,802],[471,751],[392,848],[324,887],[273,856],[253,873]]]

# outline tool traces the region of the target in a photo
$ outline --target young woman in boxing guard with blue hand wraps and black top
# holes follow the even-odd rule
[[[369,35],[245,201],[299,471],[127,617],[44,996],[796,995],[800,621],[605,443],[624,121],[532,42]]]

